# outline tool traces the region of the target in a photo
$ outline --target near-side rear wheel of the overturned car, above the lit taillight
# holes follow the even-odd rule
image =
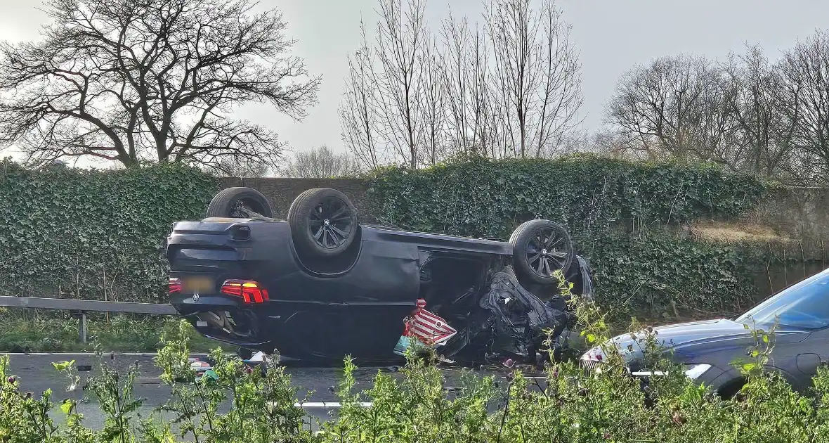
[[[346,251],[357,234],[357,212],[346,194],[315,188],[299,194],[288,209],[293,244],[314,256]]]

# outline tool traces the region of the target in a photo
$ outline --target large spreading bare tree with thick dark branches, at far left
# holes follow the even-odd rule
[[[276,134],[228,115],[264,102],[302,118],[320,80],[289,56],[282,15],[254,6],[49,0],[41,41],[0,44],[0,144],[32,163],[276,163]]]

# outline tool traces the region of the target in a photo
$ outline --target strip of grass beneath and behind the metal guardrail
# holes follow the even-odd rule
[[[79,319],[67,314],[0,313],[0,352],[155,352],[161,348],[163,330],[177,327],[177,319],[127,315],[92,315],[87,317],[87,343],[80,343]],[[224,343],[193,333],[192,350],[207,352],[222,348],[233,352]]]

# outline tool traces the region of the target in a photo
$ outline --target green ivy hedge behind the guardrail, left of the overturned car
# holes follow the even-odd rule
[[[0,163],[0,295],[158,299],[172,222],[199,218],[216,178],[162,165],[118,171]]]

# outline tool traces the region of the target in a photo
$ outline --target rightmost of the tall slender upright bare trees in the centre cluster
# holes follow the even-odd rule
[[[555,2],[492,0],[487,25],[504,141],[525,158],[554,152],[579,120],[581,66]]]

